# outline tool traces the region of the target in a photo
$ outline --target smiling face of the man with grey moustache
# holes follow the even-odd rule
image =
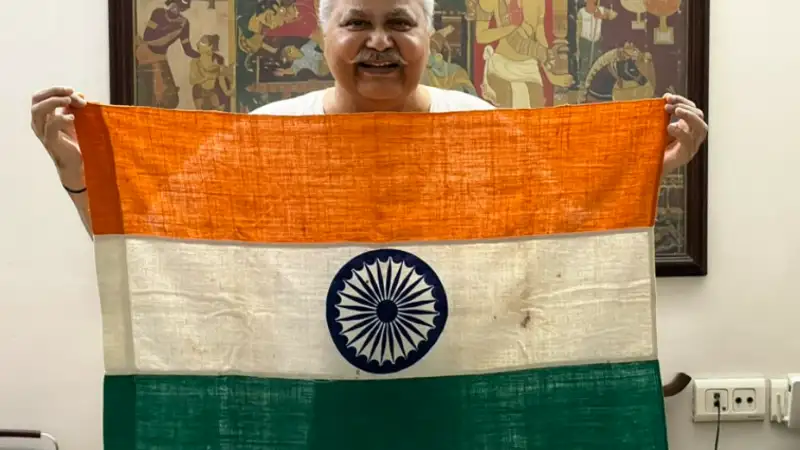
[[[336,0],[325,59],[350,95],[399,102],[419,84],[429,41],[422,0]]]

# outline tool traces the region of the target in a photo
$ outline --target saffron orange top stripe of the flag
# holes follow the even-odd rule
[[[76,118],[96,235],[252,243],[652,226],[666,125],[663,99],[302,118],[90,104]]]

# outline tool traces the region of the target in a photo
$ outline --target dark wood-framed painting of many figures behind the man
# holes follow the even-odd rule
[[[332,78],[327,72],[327,66],[324,61],[321,61],[320,47],[313,45],[313,42],[319,41],[319,34],[314,32],[317,23],[315,17],[317,1],[109,0],[111,103],[189,109],[222,109],[246,113],[264,102],[332,85]],[[586,2],[596,1],[600,2],[601,8],[595,8],[598,5],[592,7],[586,5]],[[487,36],[486,29],[490,28],[492,23],[496,24],[497,17],[502,16],[506,18],[502,20],[509,21],[523,20],[523,7],[542,4],[545,9],[542,24],[536,29],[520,25],[521,30],[518,30],[518,34],[528,36],[526,39],[534,39],[530,36],[538,36],[536,33],[544,34],[544,38],[536,37],[535,39],[547,39],[551,45],[550,53],[548,53],[549,61],[552,62],[551,72],[556,73],[561,70],[557,74],[558,76],[566,73],[573,79],[586,76],[582,84],[582,86],[586,86],[586,89],[575,88],[575,86],[579,86],[577,83],[573,83],[572,88],[568,86],[560,88],[555,82],[550,82],[551,78],[547,77],[551,74],[546,73],[543,69],[544,65],[541,65],[541,72],[547,76],[542,78],[546,81],[541,83],[550,87],[534,86],[541,89],[541,96],[532,94],[531,92],[539,92],[534,89],[528,91],[529,100],[517,96],[514,97],[512,103],[520,98],[522,98],[523,106],[519,107],[525,107],[526,102],[530,103],[529,107],[541,106],[537,104],[539,101],[544,106],[582,102],[589,101],[586,100],[589,98],[589,94],[597,94],[596,99],[592,101],[602,101],[603,95],[610,96],[612,101],[616,99],[615,93],[618,92],[614,90],[616,88],[609,87],[603,94],[600,92],[602,89],[598,91],[600,93],[596,93],[592,90],[593,88],[588,86],[591,83],[586,82],[588,75],[596,75],[592,70],[596,66],[600,67],[598,61],[601,58],[596,57],[594,44],[586,47],[587,39],[584,36],[587,35],[578,35],[583,30],[580,24],[592,24],[609,19],[609,23],[617,20],[617,23],[614,24],[617,29],[614,31],[615,29],[611,25],[604,24],[603,26],[606,27],[604,30],[611,30],[604,32],[611,34],[612,37],[609,38],[611,40],[615,39],[614,33],[616,32],[628,36],[630,39],[626,38],[625,42],[632,43],[634,53],[638,55],[637,58],[640,58],[637,60],[637,64],[642,61],[641,55],[650,55],[652,51],[655,56],[651,55],[651,60],[655,61],[659,58],[658,52],[661,52],[662,66],[660,67],[667,66],[668,69],[655,71],[653,68],[652,70],[655,72],[649,78],[663,80],[662,75],[666,74],[667,78],[672,76],[676,80],[683,80],[682,83],[677,83],[680,85],[679,88],[670,85],[670,89],[674,88],[677,93],[692,99],[698,107],[707,112],[709,2],[710,0],[437,0],[438,9],[435,20],[437,34],[432,39],[432,58],[423,81],[434,86],[461,89],[489,99],[487,95],[493,91],[490,89],[491,74],[486,75],[486,80],[483,79],[484,75],[489,73],[486,72],[489,65],[484,62],[483,58],[487,55],[489,55],[488,58],[492,58],[493,50],[487,50],[489,45],[479,44],[476,36],[481,33],[483,36]],[[180,72],[179,76],[181,77],[181,80],[176,82],[173,78],[177,79],[178,75],[173,77],[172,72],[163,71],[158,66],[158,64],[162,64],[162,61],[158,59],[158,51],[152,51],[151,47],[142,47],[144,32],[141,30],[146,30],[148,26],[154,30],[158,29],[159,20],[163,17],[152,15],[155,9],[179,8],[181,5],[185,7],[187,4],[189,6],[185,9],[186,13],[194,14],[192,16],[194,23],[189,27],[188,36],[174,34],[171,38],[165,38],[166,34],[161,36],[151,33],[149,38],[153,39],[149,42],[157,42],[162,46],[164,42],[172,39],[170,44],[167,44],[167,47],[174,44],[169,50],[172,53],[167,53],[167,56],[161,55],[161,57],[163,57],[162,59],[174,59],[177,64],[174,66],[177,67],[176,70]],[[650,11],[647,10],[648,8]],[[147,11],[140,9],[147,9]],[[502,15],[499,15],[501,9]],[[591,17],[587,15],[587,11],[590,9],[595,11]],[[209,13],[210,10],[213,10],[213,14]],[[612,13],[608,13],[608,11],[612,11]],[[656,16],[652,12],[662,16]],[[612,15],[615,16],[613,20],[611,20]],[[198,17],[200,19],[197,19]],[[202,19],[202,17],[211,17],[211,19]],[[593,20],[594,22],[592,22]],[[670,21],[669,24],[667,20]],[[283,27],[290,25],[294,26],[293,31],[281,31],[284,30]],[[635,34],[638,32],[636,30],[641,31],[642,34]],[[591,38],[593,35],[589,33],[588,36]],[[157,39],[166,39],[166,41],[159,42]],[[535,45],[520,44],[519,36],[503,39],[508,42],[516,39],[509,45],[519,45],[520,47],[527,45],[525,48],[530,52],[537,51]],[[598,47],[605,45],[601,38],[595,37],[594,39],[598,42]],[[661,42],[660,47],[656,42],[658,40]],[[606,53],[601,56],[605,57],[612,51],[622,51],[628,48],[623,45],[621,40],[618,39],[618,41],[612,44],[610,49],[603,50]],[[667,44],[664,44],[665,42]],[[678,43],[683,43],[683,45]],[[583,52],[581,52],[581,45],[584,45]],[[199,53],[195,48],[201,48],[200,46],[205,51],[205,60],[197,56]],[[494,48],[492,47],[492,49]],[[586,50],[586,48],[591,48],[591,50]],[[664,53],[664,48],[674,49]],[[317,59],[309,59],[306,57],[308,55],[303,52],[316,55]],[[494,53],[499,53],[499,51]],[[292,58],[297,58],[297,54],[305,55],[303,64],[294,65],[292,62],[294,61]],[[674,57],[675,67],[669,66],[670,63],[663,63],[668,59],[665,59],[664,54]],[[584,59],[581,59],[580,55],[583,55]],[[137,58],[147,64],[137,64]],[[647,57],[645,56],[645,58]],[[205,65],[203,61],[206,61]],[[492,70],[497,68],[494,60],[486,59],[486,61],[492,62],[490,67]],[[191,68],[187,68],[190,64]],[[559,66],[560,69],[558,69]],[[137,68],[142,67],[147,70],[141,70],[137,78]],[[216,72],[210,70],[209,67]],[[607,69],[608,72],[613,72],[613,66],[610,67]],[[655,67],[655,62],[650,67]],[[439,70],[441,68],[447,70],[441,72]],[[587,71],[587,68],[591,70]],[[209,73],[212,74],[210,78],[208,78]],[[442,76],[442,73],[447,76]],[[617,77],[616,72],[613,73],[613,76]],[[623,83],[629,81],[622,79],[622,76],[615,78],[613,83],[617,84],[612,83],[611,86],[623,86],[619,89],[619,92],[623,93],[642,92],[637,89],[648,88],[647,83],[650,83],[646,71],[642,73],[645,73],[644,87],[634,86],[628,89],[623,86]],[[641,77],[641,74],[639,75]],[[215,84],[214,76],[221,81],[217,81]],[[191,77],[194,77],[195,81],[191,81],[194,84],[189,85],[186,79]],[[141,82],[144,79],[151,84],[158,83],[162,89],[159,91],[162,92],[160,100],[153,100],[158,97],[154,94],[156,91],[149,89],[149,85],[146,83],[139,84],[137,100],[137,81]],[[198,79],[207,81],[197,82]],[[552,79],[558,78],[552,77]],[[177,87],[172,91],[163,89],[165,85],[176,86],[176,83]],[[443,86],[443,84],[446,85]],[[516,84],[519,85],[519,83]],[[528,83],[526,81],[523,84]],[[647,91],[648,93],[652,93],[654,96],[663,94],[663,86],[657,89],[657,81],[650,84],[652,84],[652,92]],[[496,102],[500,102],[497,100],[497,95],[508,96],[513,91],[511,88],[503,90],[505,85],[498,86],[501,89],[495,92]],[[508,86],[513,87],[514,85],[508,82]],[[577,97],[573,95],[576,91],[578,92]],[[174,95],[169,96],[163,92]],[[574,100],[575,98],[578,100]],[[508,107],[504,104],[498,104],[498,106]],[[511,107],[517,106],[512,104]],[[664,179],[659,201],[659,219],[656,225],[656,273],[660,277],[697,276],[707,273],[708,159],[706,148],[707,145],[704,145],[688,166],[674,174],[667,175]]]

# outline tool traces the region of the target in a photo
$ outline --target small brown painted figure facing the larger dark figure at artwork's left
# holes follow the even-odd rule
[[[219,53],[219,35],[205,35],[197,42],[198,58],[191,62],[189,82],[194,106],[202,110],[230,111],[233,68]]]

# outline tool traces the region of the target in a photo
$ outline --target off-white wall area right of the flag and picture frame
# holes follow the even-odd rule
[[[796,4],[745,3],[711,1],[710,275],[659,280],[659,352],[669,377],[800,372],[800,339],[791,334],[800,317],[800,206],[794,195],[779,201],[796,191],[800,137],[789,118],[800,117],[800,91],[778,87],[777,78],[800,70],[800,53],[776,20]],[[691,423],[690,397],[668,400],[670,443],[711,450],[715,427]],[[725,423],[720,448],[798,449],[800,430]]]

